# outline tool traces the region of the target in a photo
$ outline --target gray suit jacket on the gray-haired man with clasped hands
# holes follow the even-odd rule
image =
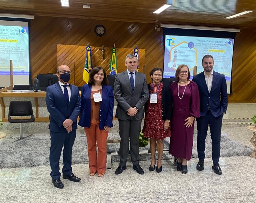
[[[148,100],[148,87],[145,74],[136,71],[133,92],[127,70],[116,74],[114,94],[117,101],[116,118],[120,120],[131,118],[126,112],[130,107],[134,106],[139,109],[138,113],[135,115],[136,120],[144,118],[143,105]]]

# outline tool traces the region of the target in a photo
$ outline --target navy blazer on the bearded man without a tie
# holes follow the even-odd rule
[[[200,94],[200,116],[205,116],[210,106],[214,117],[226,113],[228,107],[228,92],[225,76],[216,71],[213,72],[213,83],[211,91],[205,81],[204,72],[195,75],[192,81],[196,82]]]

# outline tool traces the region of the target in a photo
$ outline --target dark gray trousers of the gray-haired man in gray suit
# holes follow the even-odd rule
[[[129,153],[129,138],[130,138],[130,152],[132,164],[139,164],[139,134],[141,130],[141,120],[136,120],[134,117],[128,120],[118,120],[119,135],[121,138],[119,157],[120,166],[125,166]]]

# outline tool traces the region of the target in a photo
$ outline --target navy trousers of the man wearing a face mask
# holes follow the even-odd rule
[[[51,147],[50,147],[50,166],[52,179],[60,178],[59,172],[59,158],[63,149],[63,168],[62,174],[69,175],[72,173],[71,162],[72,162],[72,147],[76,139],[76,130],[70,133],[58,133],[50,132],[51,135]]]

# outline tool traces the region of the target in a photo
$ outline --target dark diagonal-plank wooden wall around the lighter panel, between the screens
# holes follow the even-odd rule
[[[103,37],[94,34],[94,27],[98,24],[103,24],[107,29]],[[56,72],[59,65],[57,64],[57,44],[86,46],[88,41],[92,47],[101,47],[102,44],[108,47],[105,51],[106,57],[110,57],[114,43],[118,55],[121,54],[118,51],[120,48],[129,49],[130,53],[133,53],[133,49],[138,44],[140,50],[145,50],[144,64],[148,81],[150,81],[149,71],[153,67],[163,66],[163,37],[161,32],[154,29],[154,24],[35,16],[30,23],[32,78],[38,73]],[[101,55],[101,52],[97,54]],[[125,55],[126,52],[118,58],[123,60],[121,63],[118,61],[119,70],[122,67],[125,68]],[[107,67],[109,61],[105,61],[104,67]]]

